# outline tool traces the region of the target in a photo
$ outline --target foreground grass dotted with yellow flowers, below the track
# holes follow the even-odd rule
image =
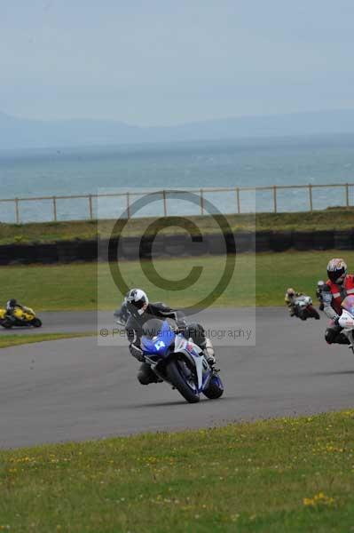
[[[354,410],[0,451],[0,530],[350,531]]]

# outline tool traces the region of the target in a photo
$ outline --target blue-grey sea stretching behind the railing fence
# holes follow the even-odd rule
[[[202,211],[193,195],[167,194],[168,214],[199,214],[274,210],[272,190],[240,190],[238,203],[236,187],[327,185],[311,191],[313,209],[325,209],[347,202],[346,183],[354,184],[354,134],[0,150],[0,222],[112,218],[122,216],[127,201],[132,216],[163,214],[161,195],[137,204],[146,191],[161,189],[232,189],[203,193]],[[55,206],[52,199],[23,200],[115,193],[93,199],[91,212],[87,198],[58,199]],[[1,201],[16,197],[18,211],[14,202]],[[277,211],[306,211],[309,188],[279,189],[276,200]],[[348,200],[354,205],[354,185]]]

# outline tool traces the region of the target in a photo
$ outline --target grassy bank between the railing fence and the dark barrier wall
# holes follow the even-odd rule
[[[232,230],[319,230],[349,229],[354,227],[354,208],[331,208],[324,211],[295,213],[257,213],[225,215]],[[220,231],[210,216],[191,216],[201,232]],[[169,221],[169,218],[166,219]],[[124,235],[143,235],[153,219],[130,219],[124,229]],[[37,222],[28,224],[0,223],[0,244],[9,243],[51,243],[62,240],[95,239],[98,235],[111,235],[112,220],[71,220],[63,222]],[[98,232],[99,230],[99,232]],[[180,233],[181,228],[174,227],[173,233]],[[171,233],[170,229],[162,233]]]

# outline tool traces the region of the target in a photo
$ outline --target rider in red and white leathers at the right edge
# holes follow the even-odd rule
[[[327,265],[328,280],[322,290],[324,312],[331,319],[326,329],[325,338],[328,344],[350,344],[342,333],[339,317],[342,314],[342,301],[354,294],[354,275],[348,274],[343,259],[331,259]]]

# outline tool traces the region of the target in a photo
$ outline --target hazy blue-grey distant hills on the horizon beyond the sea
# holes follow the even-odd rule
[[[0,113],[0,149],[256,139],[331,133],[354,133],[354,109],[244,116],[170,127],[138,127],[103,120],[39,121]]]

